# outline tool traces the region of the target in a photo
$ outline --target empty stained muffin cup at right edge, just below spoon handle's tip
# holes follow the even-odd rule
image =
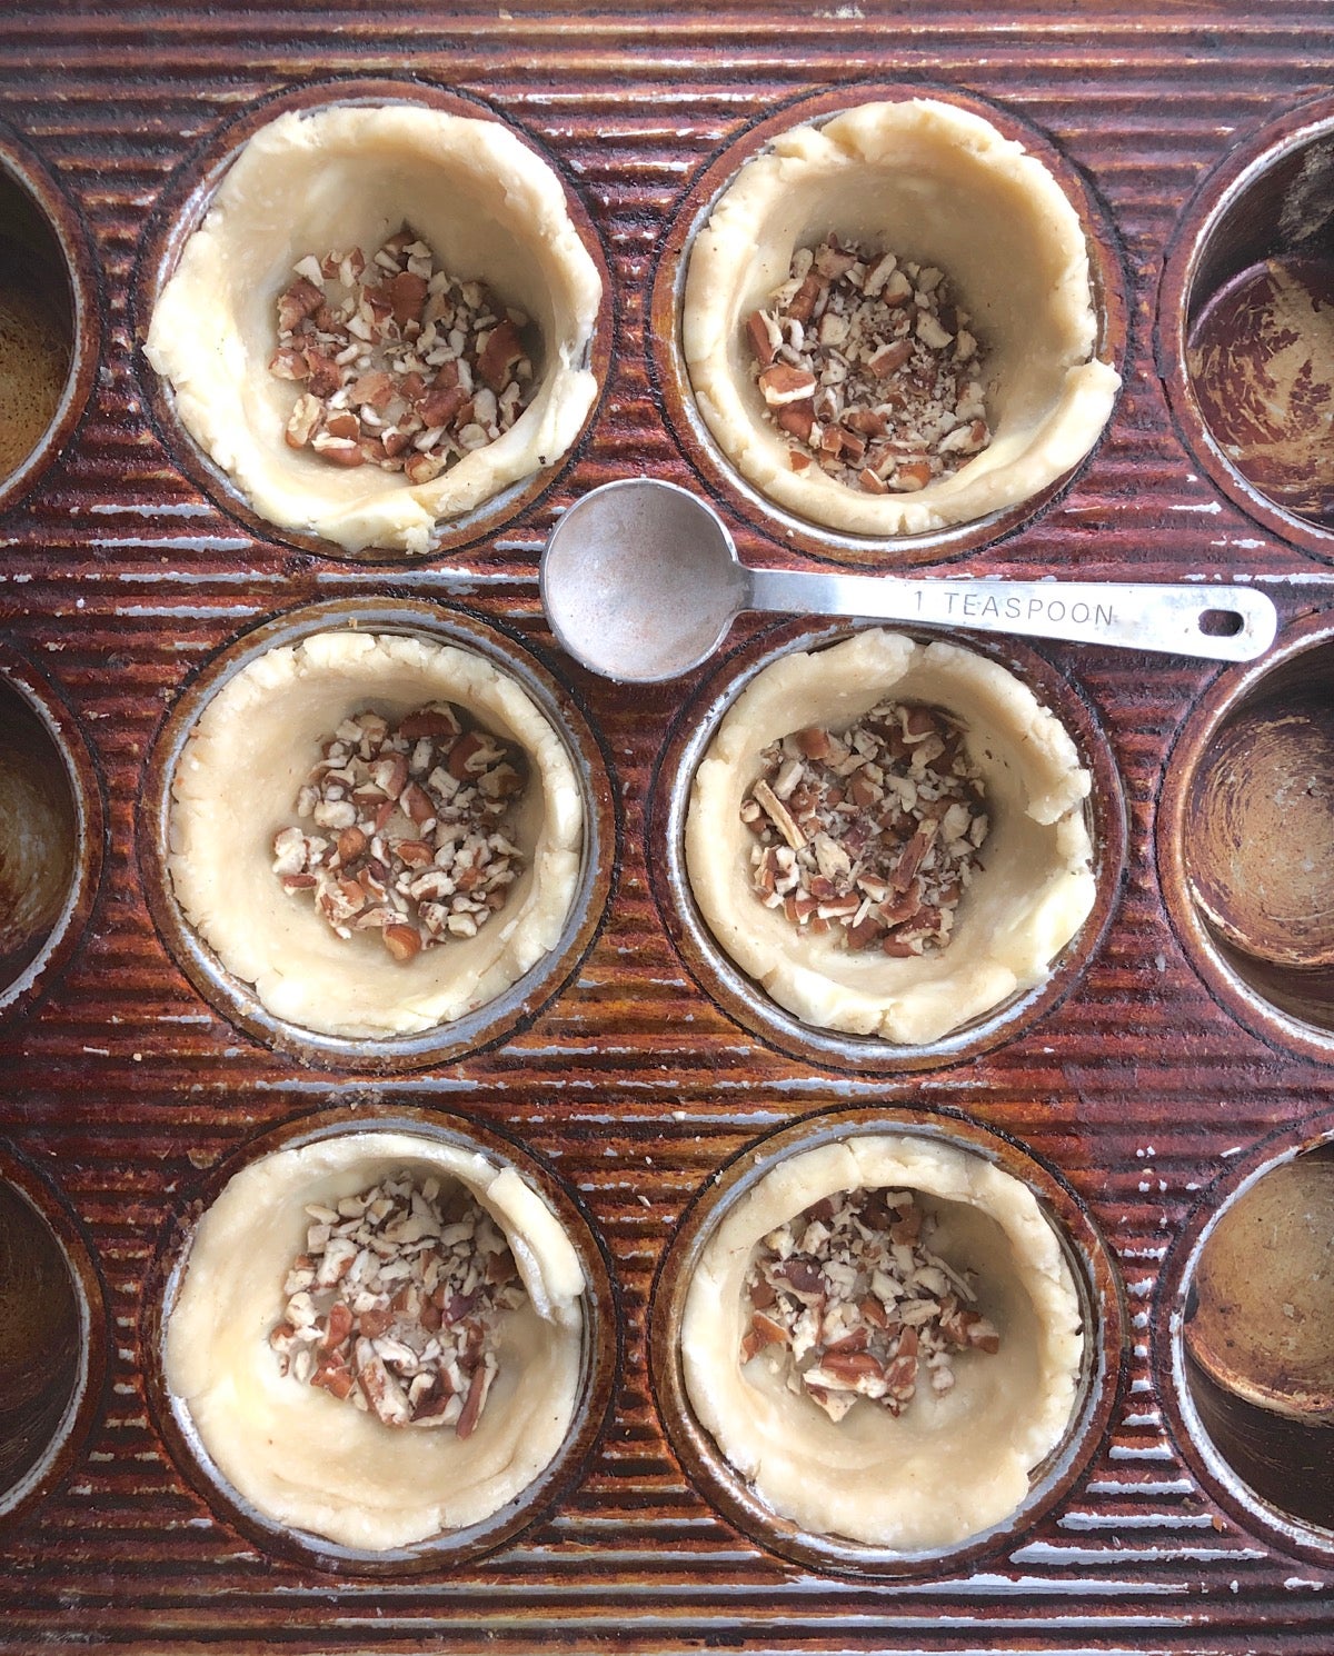
[[[1168,912],[1215,992],[1266,1033],[1334,1037],[1334,639],[1312,616],[1187,720],[1158,815]]]

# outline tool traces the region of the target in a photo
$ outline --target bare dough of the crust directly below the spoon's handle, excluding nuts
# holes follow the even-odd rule
[[[771,742],[804,725],[845,730],[885,697],[963,720],[991,818],[948,947],[915,959],[848,951],[766,909],[739,815]],[[820,1028],[916,1045],[1041,982],[1084,924],[1097,891],[1089,788],[1064,725],[1013,672],[956,644],[870,629],[784,656],[741,692],[694,773],[686,868],[714,937],[781,1007]]]

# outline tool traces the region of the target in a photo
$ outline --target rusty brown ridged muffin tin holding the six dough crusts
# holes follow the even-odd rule
[[[1309,3],[862,10],[10,12],[0,225],[45,227],[70,366],[48,436],[0,485],[0,787],[31,765],[60,825],[58,899],[18,942],[0,927],[0,1648],[1327,1649],[1334,1532],[1298,1485],[1327,1482],[1329,1427],[1293,1441],[1263,1418],[1256,1447],[1256,1423],[1200,1386],[1188,1328],[1220,1212],[1334,1139],[1329,967],[1240,946],[1196,856],[1210,833],[1228,843],[1208,813],[1216,753],[1327,702],[1334,538],[1319,502],[1231,452],[1228,392],[1201,386],[1195,349],[1266,260],[1304,262],[1317,288],[1334,31]],[[1051,161],[1085,214],[1124,389],[1092,455],[1031,508],[840,543],[757,508],[708,450],[673,344],[679,255],[785,119],[905,88],[981,106]],[[164,262],[267,109],[399,93],[509,123],[563,177],[608,278],[603,394],[563,465],[433,555],[353,560],[230,498],[141,346]],[[1311,348],[1317,364],[1319,331]],[[984,646],[1059,707],[1094,772],[1095,912],[1051,985],[936,1048],[807,1037],[711,956],[678,835],[699,732],[810,629],[751,618],[691,679],[626,689],[573,667],[542,618],[555,513],[635,472],[706,493],[752,563],[1249,578],[1279,639],[1245,669]],[[572,732],[597,854],[549,979],[467,1038],[376,1055],[273,1030],[207,977],[176,936],[157,833],[164,753],[207,674],[308,606],[379,604],[522,662]],[[1327,724],[1306,729],[1314,777]],[[1306,780],[1286,752],[1253,767],[1258,790]],[[1284,845],[1288,816],[1264,820]],[[1319,873],[1327,836],[1311,851]],[[13,866],[7,851],[7,914]],[[1246,858],[1218,868],[1245,909]],[[605,1272],[575,1451],[532,1512],[447,1562],[373,1572],[267,1535],[191,1464],[156,1379],[176,1250],[222,1169],[330,1111],[423,1113],[509,1146],[587,1220]],[[945,1557],[767,1532],[673,1381],[701,1214],[784,1134],[847,1111],[1034,1166],[1097,1326],[1064,1459],[1014,1525]]]

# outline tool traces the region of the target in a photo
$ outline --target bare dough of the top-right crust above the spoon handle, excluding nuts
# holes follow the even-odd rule
[[[744,321],[830,232],[940,267],[989,351],[993,440],[918,493],[867,495],[794,472],[762,419]],[[699,232],[681,336],[699,411],[771,500],[857,535],[920,535],[1029,500],[1097,442],[1120,378],[1094,358],[1079,215],[1051,172],[978,114],[915,98],[799,126],[749,161]]]

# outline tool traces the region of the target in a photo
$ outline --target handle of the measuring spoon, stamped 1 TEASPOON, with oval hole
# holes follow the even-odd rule
[[[1278,613],[1264,593],[1203,583],[901,580],[752,570],[746,606],[1061,638],[1206,661],[1253,661],[1278,631]]]

